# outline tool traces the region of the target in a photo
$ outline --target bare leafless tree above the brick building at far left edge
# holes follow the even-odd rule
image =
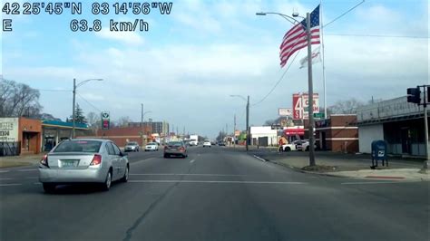
[[[34,117],[40,114],[40,92],[24,83],[0,79],[0,116]]]

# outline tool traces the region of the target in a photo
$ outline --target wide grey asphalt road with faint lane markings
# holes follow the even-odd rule
[[[0,240],[429,240],[428,182],[332,178],[243,150],[131,153],[128,183],[44,194],[0,169]]]

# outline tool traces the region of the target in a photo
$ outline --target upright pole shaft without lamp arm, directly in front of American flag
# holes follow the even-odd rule
[[[315,166],[314,137],[314,89],[312,82],[312,43],[310,34],[310,14],[306,14],[306,33],[308,35],[308,133],[309,133],[309,166]]]

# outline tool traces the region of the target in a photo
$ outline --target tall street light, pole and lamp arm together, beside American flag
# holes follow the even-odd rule
[[[288,20],[291,24],[298,24],[298,20],[290,17],[286,14],[279,13],[257,13],[257,15],[266,15],[266,14],[277,14]],[[312,46],[311,46],[311,34],[310,34],[310,14],[306,14],[306,18],[303,16],[299,16],[298,13],[293,14],[294,17],[300,17],[306,20],[306,34],[308,38],[308,133],[309,133],[309,166],[315,166],[315,146],[314,146],[314,91],[313,91],[313,82],[312,82]]]

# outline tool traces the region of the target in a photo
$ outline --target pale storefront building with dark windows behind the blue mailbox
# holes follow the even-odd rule
[[[424,157],[424,123],[423,106],[407,102],[406,96],[358,108],[359,150],[370,153],[373,140],[385,140],[389,154]]]

